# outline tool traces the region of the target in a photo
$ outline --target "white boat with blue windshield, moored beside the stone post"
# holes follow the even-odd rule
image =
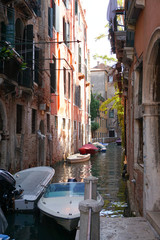
[[[52,183],[38,201],[40,211],[68,231],[78,226],[79,203],[84,200],[83,182]]]

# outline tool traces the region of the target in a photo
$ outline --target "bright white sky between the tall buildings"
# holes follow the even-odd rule
[[[94,54],[112,56],[108,36],[95,41],[95,38],[101,34],[108,35],[108,29],[105,28],[105,25],[108,23],[106,19],[108,2],[109,0],[83,0],[88,25],[87,36],[91,68],[97,65],[97,61],[102,62],[100,59],[93,60],[92,56]]]

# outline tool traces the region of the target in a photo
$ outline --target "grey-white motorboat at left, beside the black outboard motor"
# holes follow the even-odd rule
[[[16,190],[23,189],[22,194],[15,198],[15,210],[34,210],[54,173],[53,168],[40,166],[28,168],[13,175],[16,181]]]

